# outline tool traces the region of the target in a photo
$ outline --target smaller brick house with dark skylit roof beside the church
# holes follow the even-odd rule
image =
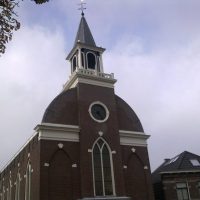
[[[156,200],[200,200],[200,156],[184,151],[152,174]]]

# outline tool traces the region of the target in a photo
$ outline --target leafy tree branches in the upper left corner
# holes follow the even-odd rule
[[[49,0],[32,1],[42,4]],[[13,32],[20,28],[20,22],[16,19],[16,6],[19,6],[18,0],[0,0],[0,56],[5,53],[6,43],[12,40]]]

